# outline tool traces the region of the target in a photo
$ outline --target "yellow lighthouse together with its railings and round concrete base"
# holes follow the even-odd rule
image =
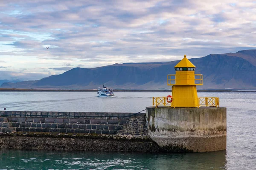
[[[219,107],[218,97],[198,97],[196,85],[203,85],[203,75],[195,74],[186,55],[174,68],[176,74],[167,75],[172,96],[153,97],[153,106],[146,108],[148,135],[175,152],[226,149],[227,108]]]

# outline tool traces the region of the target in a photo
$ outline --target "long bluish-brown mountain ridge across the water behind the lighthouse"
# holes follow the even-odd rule
[[[195,73],[204,75],[204,85],[198,89],[256,89],[256,50],[210,54],[189,60],[197,67]],[[177,62],[73,68],[37,81],[3,83],[0,88],[95,89],[105,83],[111,88],[169,89],[167,74],[175,74]]]

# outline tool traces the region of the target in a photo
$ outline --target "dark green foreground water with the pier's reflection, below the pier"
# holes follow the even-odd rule
[[[122,153],[0,150],[0,169],[206,170],[225,168],[225,150],[211,153]]]

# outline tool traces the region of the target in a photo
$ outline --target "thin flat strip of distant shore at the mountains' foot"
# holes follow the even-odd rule
[[[93,92],[98,90],[63,90],[63,89],[21,89],[21,88],[0,88],[0,92]],[[114,90],[114,92],[170,92],[172,90]],[[202,89],[198,92],[256,92],[256,90],[242,90],[242,89]]]

